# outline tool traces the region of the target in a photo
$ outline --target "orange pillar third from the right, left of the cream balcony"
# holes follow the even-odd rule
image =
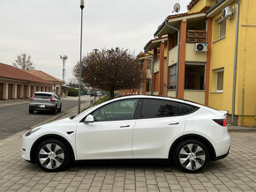
[[[160,44],[158,95],[163,95],[164,41]]]

